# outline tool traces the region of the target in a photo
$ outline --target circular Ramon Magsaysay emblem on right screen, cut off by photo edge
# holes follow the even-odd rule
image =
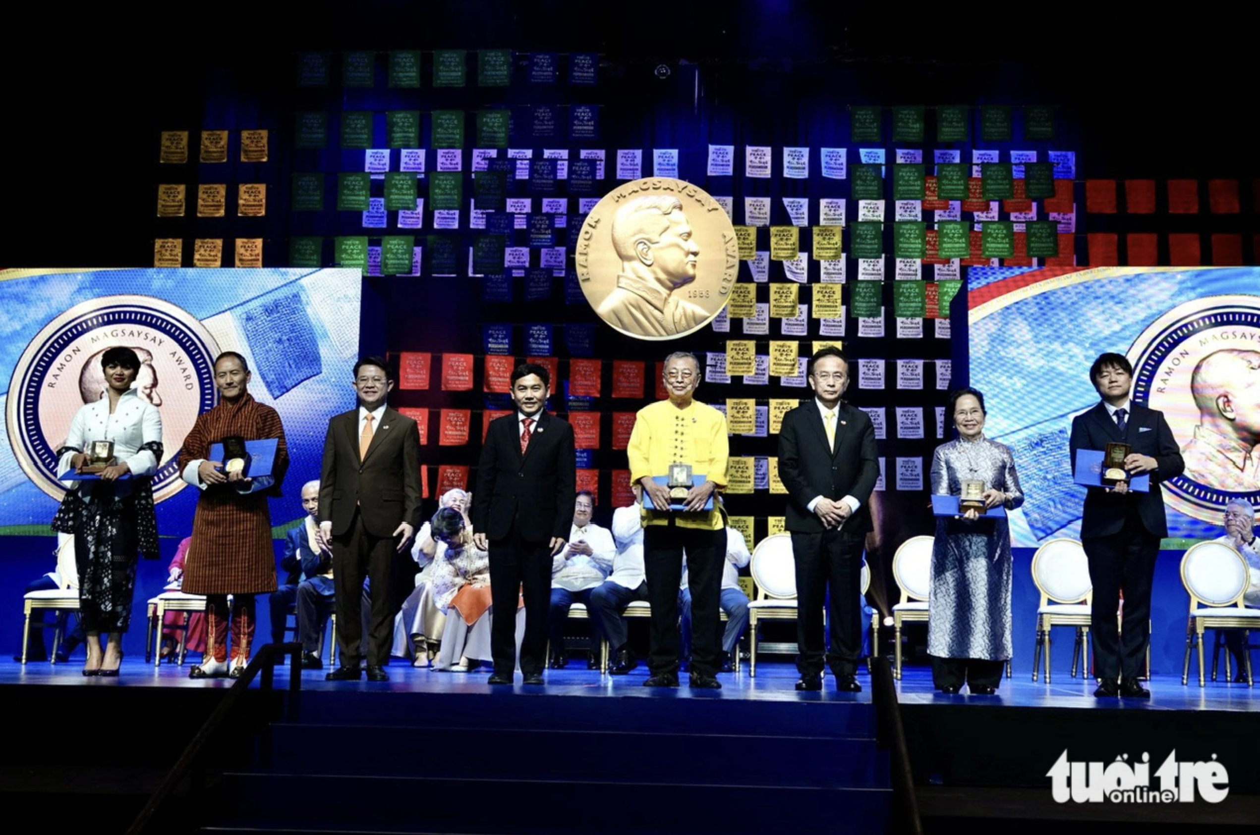
[[[1164,500],[1220,523],[1231,499],[1260,503],[1260,297],[1208,296],[1150,324],[1129,353],[1133,397],[1164,413],[1186,471]]]

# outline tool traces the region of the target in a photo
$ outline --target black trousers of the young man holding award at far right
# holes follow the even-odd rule
[[[1159,537],[1130,508],[1124,526],[1109,537],[1082,537],[1094,583],[1090,632],[1094,636],[1094,678],[1137,681],[1144,673],[1150,642],[1150,578],[1159,555]],[[1120,592],[1124,622],[1116,627]]]

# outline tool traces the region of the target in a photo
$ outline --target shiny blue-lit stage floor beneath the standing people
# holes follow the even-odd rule
[[[227,688],[233,684],[229,679],[193,680],[188,678],[190,662],[184,666],[163,664],[154,667],[142,661],[125,660],[122,675],[117,679],[86,678],[81,675],[82,661],[71,664],[48,664],[47,661],[30,662],[25,667],[20,664],[5,659],[0,661],[0,685],[38,684],[58,686],[93,686],[93,688]],[[517,674],[517,683],[512,688],[486,684],[488,669],[470,673],[437,673],[428,669],[413,669],[406,664],[396,662],[387,667],[389,673],[388,683],[358,683],[325,681],[326,670],[302,671],[304,690],[364,690],[373,693],[440,693],[440,694],[486,694],[499,693],[503,695],[564,695],[588,698],[678,698],[678,699],[745,699],[752,702],[871,702],[871,678],[864,667],[858,675],[862,684],[862,693],[837,693],[834,681],[824,679],[822,693],[796,693],[795,665],[785,661],[759,661],[757,675],[748,675],[747,665],[740,673],[722,674],[722,690],[692,690],[687,686],[687,675],[680,676],[683,686],[677,690],[644,688],[643,681],[648,675],[646,667],[640,665],[638,670],[625,676],[601,676],[593,670],[581,667],[581,662],[570,664],[567,670],[547,670],[544,686],[525,686],[520,684],[520,675]],[[276,686],[286,688],[289,684],[289,666],[276,667]],[[255,685],[257,686],[257,684]],[[1017,674],[1012,679],[1003,679],[998,688],[998,694],[993,696],[973,696],[966,690],[959,695],[945,695],[932,689],[931,671],[926,667],[906,667],[901,681],[897,683],[898,698],[903,705],[969,705],[983,704],[988,707],[1012,708],[1075,708],[1075,709],[1104,709],[1104,710],[1231,710],[1252,712],[1260,710],[1260,686],[1249,688],[1246,684],[1232,684],[1225,681],[1208,681],[1207,686],[1200,688],[1192,676],[1188,685],[1182,685],[1181,676],[1155,675],[1148,688],[1152,691],[1149,702],[1135,699],[1095,699],[1095,684],[1092,680],[1074,679],[1066,674],[1055,676],[1052,684],[1045,681],[1031,681],[1027,674]]]

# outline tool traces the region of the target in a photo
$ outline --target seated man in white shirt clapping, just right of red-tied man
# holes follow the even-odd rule
[[[570,529],[568,545],[552,557],[552,598],[547,616],[547,631],[551,639],[551,661],[553,670],[563,670],[568,664],[564,652],[564,620],[568,610],[578,602],[591,607],[591,593],[598,588],[612,569],[612,558],[617,549],[612,534],[591,521],[595,513],[595,496],[588,490],[577,494],[573,501],[573,526]],[[587,655],[587,667],[598,669],[600,631],[591,620],[591,650]]]

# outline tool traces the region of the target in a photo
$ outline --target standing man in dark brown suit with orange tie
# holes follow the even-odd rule
[[[336,587],[336,637],[341,666],[330,681],[359,679],[362,641],[360,589],[372,586],[368,630],[368,680],[388,681],[393,621],[389,616],[389,574],[396,552],[412,538],[420,510],[420,429],[416,422],[386,406],[393,380],[379,356],[354,364],[359,406],[328,423],[320,474],[320,533],[333,542]]]

